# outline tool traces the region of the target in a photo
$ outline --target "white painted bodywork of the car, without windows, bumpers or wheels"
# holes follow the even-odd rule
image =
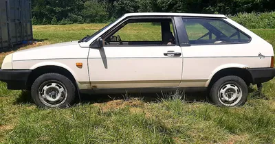
[[[89,45],[113,25],[129,16],[201,16],[226,18],[212,14],[136,13],[124,14],[118,21],[83,43],[72,41],[17,51],[5,57],[1,69],[30,69],[57,66],[67,69],[80,90],[96,88],[186,88],[208,87],[213,75],[227,68],[270,67],[272,45],[226,18],[251,37],[250,43],[232,45],[191,45],[190,47],[108,47]],[[166,51],[181,53],[178,57],[164,56]],[[261,56],[265,58],[260,58]],[[83,63],[77,67],[76,63]]]

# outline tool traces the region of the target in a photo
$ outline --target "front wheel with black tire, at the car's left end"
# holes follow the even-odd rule
[[[49,95],[46,95],[47,92],[49,92]],[[66,108],[74,102],[76,87],[64,75],[45,73],[39,76],[32,84],[31,95],[34,103],[41,108]],[[52,97],[55,99],[51,99]],[[58,101],[55,101],[56,99]]]

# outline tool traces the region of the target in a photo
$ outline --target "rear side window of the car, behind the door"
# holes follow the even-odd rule
[[[190,45],[248,43],[250,37],[221,19],[185,18],[184,25]]]

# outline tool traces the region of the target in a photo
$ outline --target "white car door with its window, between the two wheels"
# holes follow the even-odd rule
[[[162,33],[165,29],[162,19],[151,21],[147,18],[144,21],[139,17],[140,20],[131,21],[132,19],[115,25],[120,27],[119,29],[113,27],[108,34],[103,34],[105,37],[102,37],[102,48],[89,50],[91,87],[96,89],[179,86],[182,55],[181,47],[176,44],[177,40],[175,43],[167,45],[165,42],[163,45],[165,36]],[[172,19],[167,21],[172,23]],[[174,31],[173,26],[171,27]],[[166,32],[167,29],[166,25]],[[110,34],[111,36],[108,36]]]

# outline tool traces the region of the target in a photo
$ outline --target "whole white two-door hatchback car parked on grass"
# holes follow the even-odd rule
[[[125,33],[126,32],[126,33]],[[79,41],[17,51],[0,80],[58,107],[80,93],[208,91],[219,106],[241,106],[248,86],[275,76],[272,45],[217,14],[133,13]]]

